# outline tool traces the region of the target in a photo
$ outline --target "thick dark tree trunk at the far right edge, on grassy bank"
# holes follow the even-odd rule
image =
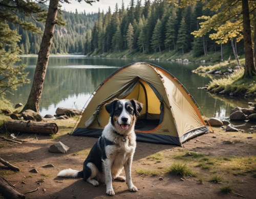
[[[243,33],[244,33],[244,52],[245,52],[245,66],[243,78],[249,78],[256,75],[256,69],[253,63],[253,51],[251,43],[251,28],[249,17],[248,0],[242,0],[243,9]]]

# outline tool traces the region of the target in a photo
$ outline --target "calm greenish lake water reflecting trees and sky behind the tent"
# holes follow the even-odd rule
[[[33,81],[37,57],[21,57],[21,63],[27,64],[28,78]],[[245,99],[226,99],[212,96],[198,87],[205,86],[210,77],[192,73],[199,63],[183,64],[179,62],[144,60],[144,59],[117,59],[96,58],[86,56],[50,56],[45,77],[44,88],[39,104],[39,113],[54,115],[57,107],[83,108],[84,104],[96,87],[123,65],[132,62],[150,62],[172,73],[194,97],[206,117],[224,119],[229,116],[230,109],[236,106],[247,107]],[[24,84],[14,91],[14,95],[7,95],[13,104],[27,102],[30,84]]]

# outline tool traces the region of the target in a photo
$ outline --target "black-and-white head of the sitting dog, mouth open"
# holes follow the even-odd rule
[[[106,111],[110,114],[111,124],[118,130],[127,130],[135,124],[136,117],[140,115],[142,103],[137,100],[118,100],[105,105]]]

